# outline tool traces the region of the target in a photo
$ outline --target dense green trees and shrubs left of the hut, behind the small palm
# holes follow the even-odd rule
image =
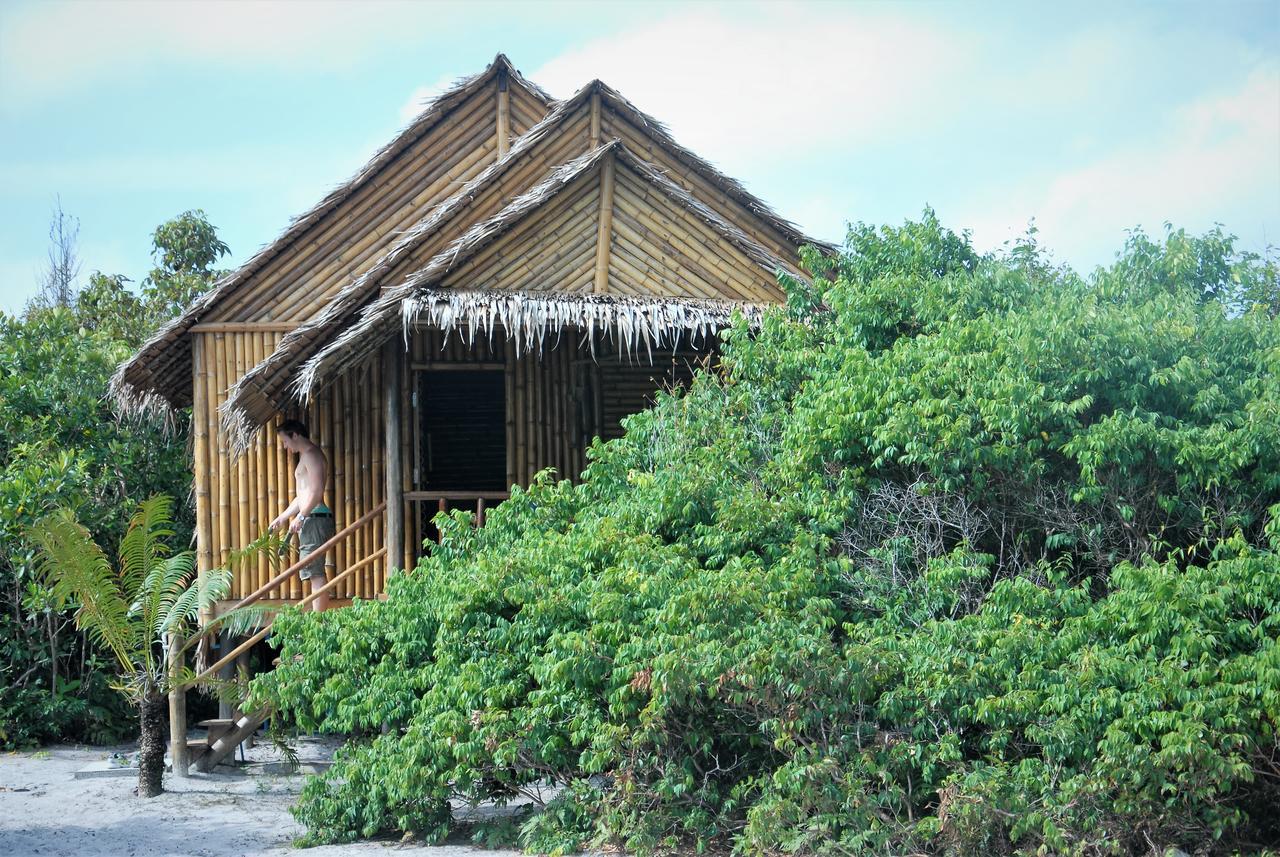
[[[58,604],[37,574],[31,531],[65,508],[114,549],[138,501],[161,492],[180,500],[174,545],[191,539],[186,423],[164,431],[116,421],[106,385],[220,274],[214,265],[227,247],[198,211],[157,228],[154,247],[156,267],[134,292],[101,272],[76,288],[63,244],[56,288],[22,316],[0,313],[0,747],[102,742],[137,725],[108,687],[114,659],[76,631],[76,605]]]

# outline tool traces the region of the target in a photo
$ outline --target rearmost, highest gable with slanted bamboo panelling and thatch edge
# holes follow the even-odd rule
[[[241,316],[237,316],[230,304],[236,302],[237,295],[243,298],[251,289],[251,284],[261,281],[264,276],[275,274],[284,279],[280,280],[279,287],[273,285],[273,288],[265,289],[259,301],[265,299],[268,303],[265,310],[257,311],[259,315],[265,312],[266,315],[262,317],[270,318],[273,317],[271,312],[280,304],[282,295],[297,295],[294,301],[297,310],[292,316],[293,320],[301,322],[312,316],[320,306],[319,302],[326,297],[323,288],[317,289],[320,285],[317,283],[320,278],[316,276],[317,269],[324,266],[332,278],[346,278],[352,265],[347,257],[349,247],[344,247],[340,240],[328,238],[325,242],[319,242],[316,240],[317,233],[334,221],[344,205],[349,207],[358,196],[375,187],[380,175],[387,174],[388,170],[393,169],[393,165],[403,162],[406,155],[422,151],[424,146],[429,146],[435,137],[453,133],[458,114],[470,111],[471,105],[479,106],[480,102],[486,105],[488,100],[484,96],[490,88],[499,87],[506,87],[513,95],[511,98],[513,109],[509,111],[509,116],[513,123],[511,130],[516,134],[526,132],[527,123],[540,119],[553,101],[543,90],[526,81],[502,54],[480,74],[460,81],[449,91],[426,105],[424,111],[393,141],[379,150],[355,177],[335,188],[310,211],[297,217],[279,238],[259,251],[237,271],[214,284],[186,312],[161,327],[142,345],[137,354],[123,363],[111,379],[111,394],[118,407],[123,412],[164,413],[169,408],[189,405],[192,400],[191,329],[204,321],[224,320],[223,316],[230,320],[251,317],[243,316],[243,313],[255,312],[253,306],[242,307]],[[430,169],[440,168],[447,169],[447,171],[426,191],[408,196],[399,205],[399,211],[413,219],[420,217],[421,214],[413,214],[415,207],[419,211],[430,207],[434,202],[449,196],[456,187],[454,182],[460,178],[470,178],[470,175],[483,170],[488,161],[495,160],[495,150],[488,155],[488,161],[484,160],[485,155],[481,150],[493,150],[497,146],[497,128],[485,132],[484,128],[493,124],[492,119],[481,116],[479,111],[472,113],[480,130],[471,134],[465,141],[465,146],[454,145],[448,162],[424,156],[425,161],[431,161],[428,164]],[[477,153],[474,155],[472,150],[476,150]],[[421,179],[417,173],[415,175]],[[408,192],[411,188],[412,185],[406,185],[401,193]],[[394,194],[380,192],[380,196],[392,197]],[[393,202],[393,200],[380,198],[376,206],[385,208],[388,202]],[[374,206],[369,203],[362,205],[362,208],[371,207]],[[392,207],[394,208],[394,206]],[[370,212],[364,211],[364,214]],[[394,224],[388,223],[387,214],[381,217],[383,220],[367,232],[384,243],[390,242]],[[316,255],[314,261],[301,265],[289,256],[291,252],[306,255],[312,249],[319,249],[321,253],[328,252],[328,256]],[[376,251],[376,247],[372,251]],[[370,252],[366,249],[365,256],[369,257]],[[372,255],[369,261],[378,257],[380,253]],[[301,270],[294,270],[291,274],[289,266],[298,266]]]

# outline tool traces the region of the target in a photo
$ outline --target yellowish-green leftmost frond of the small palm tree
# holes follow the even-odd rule
[[[37,568],[58,604],[78,601],[76,627],[109,649],[127,675],[136,673],[150,645],[132,627],[120,578],[88,530],[72,512],[59,509],[31,532],[41,549]]]

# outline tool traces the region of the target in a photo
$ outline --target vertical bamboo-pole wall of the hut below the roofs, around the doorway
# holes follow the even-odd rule
[[[195,473],[200,570],[223,567],[232,550],[257,539],[268,523],[294,495],[296,457],[279,445],[274,425],[265,426],[250,449],[238,458],[228,452],[218,422],[218,405],[227,389],[248,366],[269,353],[283,336],[271,327],[206,325],[195,334],[196,408]],[[686,381],[698,354],[655,353],[654,363],[626,359],[611,353],[608,342],[596,343],[596,357],[581,344],[577,331],[550,338],[541,354],[517,357],[499,334],[494,342],[468,345],[460,335],[422,330],[412,336],[402,372],[403,490],[426,490],[421,480],[420,409],[430,402],[415,397],[417,372],[465,367],[502,370],[506,385],[506,462],[508,484],[527,485],[534,475],[553,467],[562,477],[576,480],[586,467],[585,450],[595,435],[621,434],[620,420],[649,404],[655,389]],[[329,459],[325,501],[342,530],[385,499],[385,426],[381,357],[347,372],[316,399],[306,413],[311,439]],[[453,487],[453,486],[451,486]],[[466,505],[466,504],[460,504]],[[474,505],[474,504],[472,504]],[[390,564],[411,568],[420,553],[425,526],[435,507],[404,510],[406,555]],[[425,512],[425,514],[424,514]],[[333,555],[334,570],[342,570],[383,546],[384,521],[375,517],[339,544]],[[335,600],[372,599],[385,591],[388,563],[378,559],[333,591]],[[264,558],[241,568],[232,599],[239,599],[266,583],[273,569]],[[269,592],[269,600],[301,599],[306,592],[296,577]]]

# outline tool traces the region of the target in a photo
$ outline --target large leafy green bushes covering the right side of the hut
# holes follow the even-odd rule
[[[312,842],[1133,853],[1280,842],[1280,287],[1219,232],[1089,278],[851,230],[704,373],[276,623],[255,693],[356,732]],[[301,655],[296,663],[293,656]],[[380,732],[384,728],[385,732]]]

